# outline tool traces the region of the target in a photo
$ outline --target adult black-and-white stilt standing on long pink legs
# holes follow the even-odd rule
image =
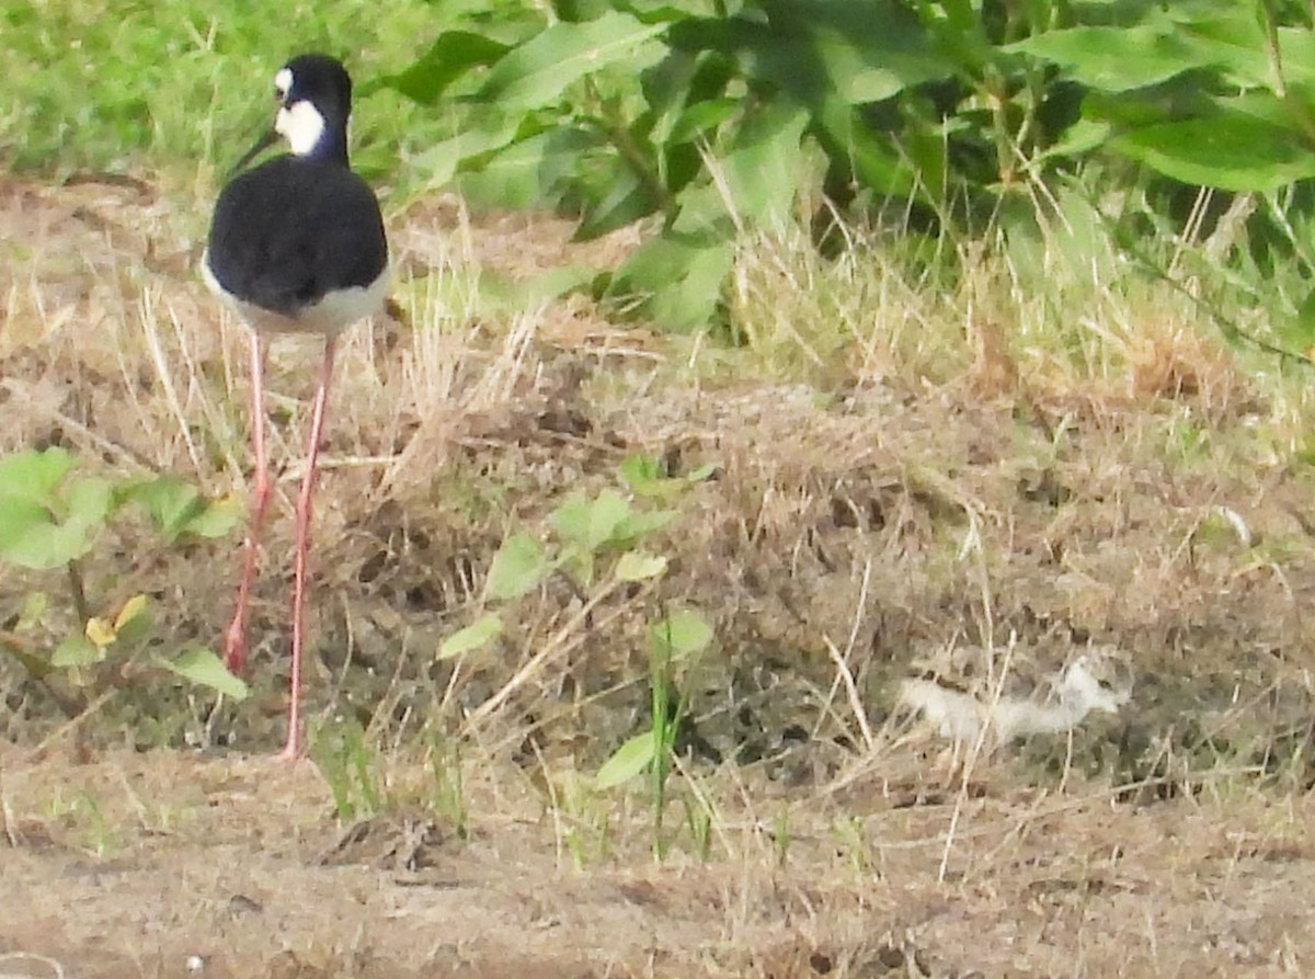
[[[347,163],[351,79],[334,58],[304,54],[274,76],[279,111],[272,130],[238,164],[241,170],[280,136],[292,150],[235,176],[214,205],[201,259],[206,284],[251,329],[251,442],[255,486],[237,609],[225,633],[227,667],[246,661],[246,617],[260,528],[270,501],[264,449],[266,333],[321,333],[320,389],[310,420],[306,472],[297,500],[292,593],[292,692],[284,758],[301,753],[301,650],[305,642],[306,549],[329,383],[338,334],[384,307],[388,242],[379,201]]]

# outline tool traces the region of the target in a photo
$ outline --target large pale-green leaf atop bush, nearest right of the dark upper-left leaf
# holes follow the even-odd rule
[[[609,12],[583,24],[558,22],[509,51],[489,71],[477,99],[504,111],[554,104],[572,82],[609,64],[640,72],[663,57],[654,38],[664,24],[642,24]]]

